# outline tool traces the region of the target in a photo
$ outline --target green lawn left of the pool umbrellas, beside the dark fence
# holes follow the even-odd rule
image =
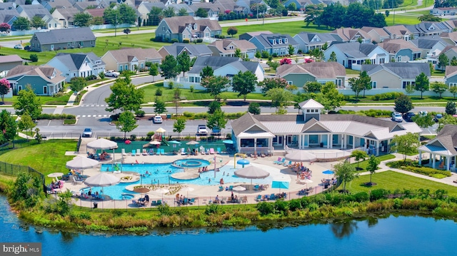
[[[76,149],[76,140],[43,140],[36,144],[30,140],[30,146],[10,150],[0,155],[0,161],[15,165],[30,166],[45,176],[49,173],[68,173],[65,163],[74,158],[73,155],[65,155],[65,151]],[[46,183],[51,178],[46,177]]]

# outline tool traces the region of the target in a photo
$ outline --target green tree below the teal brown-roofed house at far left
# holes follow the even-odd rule
[[[13,107],[17,116],[28,113],[32,120],[36,120],[41,115],[41,111],[43,111],[40,99],[36,97],[30,85],[27,85],[25,90],[19,91],[19,96],[17,101],[13,103]]]

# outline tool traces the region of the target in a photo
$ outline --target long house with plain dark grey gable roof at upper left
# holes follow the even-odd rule
[[[31,51],[54,51],[95,47],[96,37],[89,27],[36,32],[30,39]]]

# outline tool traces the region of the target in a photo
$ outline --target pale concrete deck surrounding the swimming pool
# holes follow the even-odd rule
[[[85,154],[81,154],[85,156]],[[234,164],[233,162],[233,157],[227,155],[227,154],[216,154],[217,160],[219,161],[214,161],[214,156],[215,155],[191,155],[191,156],[186,156],[186,155],[124,155],[124,157],[121,155],[121,153],[116,153],[114,156],[114,159],[116,162],[120,162],[122,159],[124,161],[124,164],[136,164],[136,163],[172,163],[175,160],[181,160],[181,159],[204,159],[204,160],[209,160],[211,163],[216,162],[216,168],[221,168],[222,165],[232,165]],[[267,170],[270,172],[270,170],[274,170],[274,175],[275,177],[278,177],[278,175],[281,175],[281,180],[290,180],[289,183],[289,188],[287,190],[281,189],[281,193],[286,192],[287,193],[287,199],[293,199],[293,198],[301,198],[303,195],[298,195],[298,191],[303,189],[303,188],[311,188],[313,187],[313,193],[321,193],[323,191],[323,186],[320,185],[321,180],[323,178],[331,178],[330,175],[324,175],[322,172],[324,170],[328,170],[331,168],[332,163],[303,163],[308,167],[310,170],[313,171],[313,177],[311,180],[313,180],[313,183],[308,183],[308,184],[303,184],[303,183],[297,183],[297,175],[294,173],[290,168],[287,168],[283,165],[276,165],[273,163],[274,160],[277,160],[278,156],[271,156],[271,157],[266,157],[266,158],[246,158],[248,159],[252,165],[256,165],[258,167],[264,167],[264,170]],[[239,158],[237,158],[238,160]],[[104,164],[109,164],[112,163],[110,161],[104,161]],[[288,161],[287,161],[288,163]],[[214,164],[208,166],[209,170],[214,169]],[[100,168],[92,168],[92,169],[86,169],[84,170],[84,175],[96,175],[100,172]],[[198,169],[186,169],[184,173],[176,173],[179,174],[181,179],[191,179],[191,178],[198,178]],[[116,176],[124,176],[123,173],[114,173]],[[273,175],[273,173],[272,173]],[[256,184],[256,180],[253,180],[253,185]],[[234,195],[237,195],[238,198],[244,198],[246,197],[246,202],[244,203],[256,203],[256,197],[258,195],[271,195],[271,194],[276,194],[279,193],[280,190],[278,188],[267,188],[266,190],[252,190],[249,189],[250,183],[224,183],[224,188],[227,186],[237,186],[237,185],[242,185],[245,188],[248,188],[248,190],[244,191],[233,191]],[[164,185],[166,188],[166,185]],[[81,188],[86,188],[87,186],[84,184],[78,184],[74,185],[71,182],[66,182],[64,183],[64,189],[63,190],[71,190],[76,193],[79,193],[79,190]],[[183,184],[183,188],[185,187],[191,187],[194,190],[191,192],[181,192],[178,191],[176,193],[186,195],[188,198],[196,198],[196,203],[194,205],[206,205],[209,204],[211,200],[214,200],[216,196],[219,196],[219,199],[224,199],[224,198],[230,198],[231,197],[231,191],[220,191],[219,190],[219,185],[192,185],[192,184]],[[177,206],[176,203],[174,202],[174,198],[176,198],[176,193],[172,195],[168,194],[157,194],[154,191],[150,191],[147,193],[149,197],[151,198],[151,201],[156,201],[159,199],[162,199],[166,201],[171,206]],[[134,200],[137,200],[138,198],[144,197],[143,194],[134,194],[136,197]],[[198,199],[197,199],[198,198]],[[81,206],[81,207],[86,207],[86,208],[92,208],[94,206],[94,203],[98,203],[98,208],[139,208],[137,205],[134,205],[132,203],[132,200],[81,200],[81,199],[74,199],[74,204]],[[146,207],[151,207],[146,206]],[[142,207],[144,208],[144,207]]]

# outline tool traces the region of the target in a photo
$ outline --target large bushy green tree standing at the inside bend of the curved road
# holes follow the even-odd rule
[[[111,94],[105,98],[108,105],[106,111],[139,111],[144,99],[144,90],[135,88],[131,83],[126,83],[124,79],[118,78],[110,87]]]

